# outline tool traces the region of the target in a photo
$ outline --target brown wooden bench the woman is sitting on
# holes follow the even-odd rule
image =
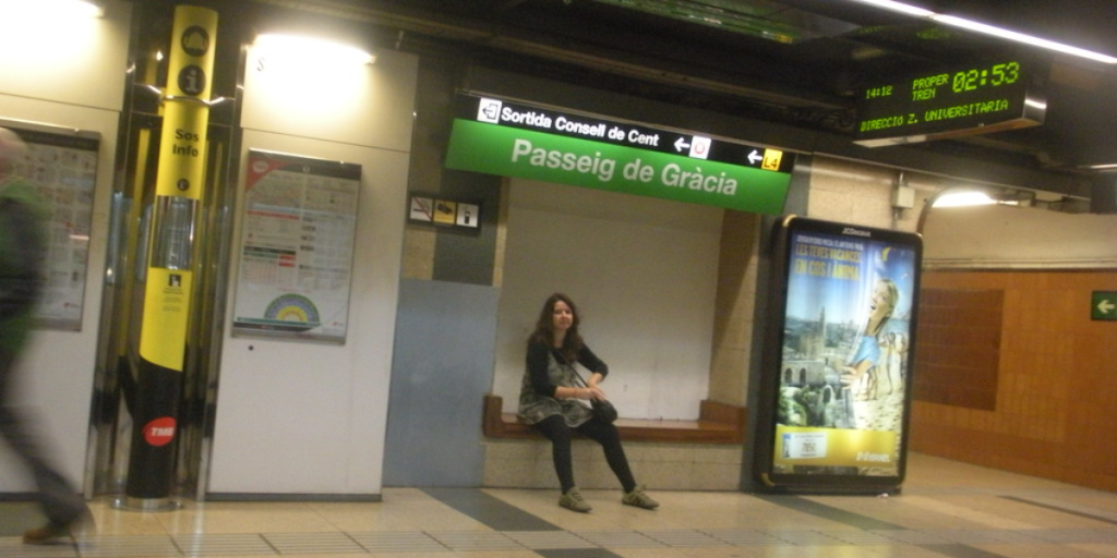
[[[486,437],[543,440],[543,434],[519,422],[515,413],[503,412],[503,397],[485,395]],[[617,427],[626,442],[741,444],[745,440],[745,408],[704,400],[697,421],[619,419]]]

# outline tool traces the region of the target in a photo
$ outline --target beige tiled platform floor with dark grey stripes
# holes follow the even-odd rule
[[[657,492],[662,507],[583,491],[385,489],[376,503],[187,502],[122,511],[93,502],[74,545],[27,547],[40,518],[0,502],[0,558],[682,558],[1117,557],[1117,493],[909,456],[901,496]]]

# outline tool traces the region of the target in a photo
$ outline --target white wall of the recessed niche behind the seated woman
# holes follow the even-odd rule
[[[494,393],[514,412],[527,336],[570,295],[623,417],[698,416],[713,347],[722,210],[513,180]]]

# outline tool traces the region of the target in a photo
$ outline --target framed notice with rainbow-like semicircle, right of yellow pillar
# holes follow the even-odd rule
[[[233,335],[345,343],[361,165],[249,151]]]

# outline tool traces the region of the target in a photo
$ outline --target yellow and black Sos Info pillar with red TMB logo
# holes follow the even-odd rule
[[[176,506],[171,489],[193,286],[191,254],[200,240],[194,223],[206,183],[216,36],[217,12],[193,6],[175,8],[125,487],[125,506],[132,508]]]

